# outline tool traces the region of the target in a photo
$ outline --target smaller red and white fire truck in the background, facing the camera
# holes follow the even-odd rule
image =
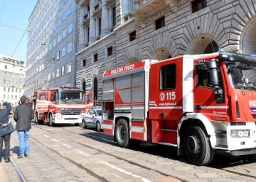
[[[32,108],[35,122],[49,123],[82,123],[83,115],[93,106],[93,93],[84,92],[77,87],[57,87],[34,92]]]

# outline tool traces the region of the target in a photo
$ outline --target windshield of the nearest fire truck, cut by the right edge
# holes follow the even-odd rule
[[[238,89],[256,90],[256,67],[245,63],[227,65],[230,82]]]

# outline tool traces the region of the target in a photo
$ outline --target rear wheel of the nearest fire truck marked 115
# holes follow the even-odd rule
[[[125,119],[119,119],[115,129],[116,142],[118,146],[128,148],[132,144],[129,138],[129,127]]]

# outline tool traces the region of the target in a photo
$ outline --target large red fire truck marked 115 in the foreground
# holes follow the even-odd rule
[[[256,153],[256,58],[231,52],[143,60],[105,71],[102,124],[118,146],[178,147],[195,165]]]

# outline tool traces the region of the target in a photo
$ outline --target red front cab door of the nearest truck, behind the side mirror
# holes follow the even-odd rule
[[[222,79],[222,72],[217,61],[217,74],[219,79],[218,90],[209,86],[206,66],[195,66],[194,69],[194,109],[197,113],[202,113],[210,120],[228,121],[228,98],[225,80]],[[206,60],[207,63],[207,60]],[[222,94],[216,94],[220,92]]]

